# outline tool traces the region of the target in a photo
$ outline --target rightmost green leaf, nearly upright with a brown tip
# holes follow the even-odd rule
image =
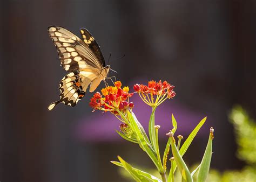
[[[213,128],[210,129],[210,136],[205,149],[204,157],[201,161],[199,171],[197,174],[198,182],[206,181],[207,175],[209,173],[211,159],[212,159],[212,139],[213,139]]]

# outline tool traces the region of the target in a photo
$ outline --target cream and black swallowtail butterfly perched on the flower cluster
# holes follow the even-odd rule
[[[110,66],[105,65],[100,47],[88,30],[80,29],[82,39],[60,26],[49,26],[48,32],[57,48],[60,66],[70,72],[59,82],[60,99],[48,109],[52,110],[61,102],[74,107],[83,99],[88,87],[93,92],[101,81],[107,84],[105,79]]]

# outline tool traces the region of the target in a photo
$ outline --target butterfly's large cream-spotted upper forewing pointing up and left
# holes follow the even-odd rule
[[[61,66],[65,71],[104,67],[104,58],[99,47],[96,51],[98,44],[92,36],[85,43],[75,34],[60,26],[50,26],[48,32],[57,48]]]

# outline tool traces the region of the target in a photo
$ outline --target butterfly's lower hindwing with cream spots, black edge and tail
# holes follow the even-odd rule
[[[83,99],[87,87],[93,80],[100,80],[98,70],[86,68],[82,71],[75,71],[67,74],[59,82],[60,99],[49,105],[48,109],[52,110],[58,103],[63,102],[65,105],[74,107],[77,102]],[[100,82],[99,81],[99,82]]]

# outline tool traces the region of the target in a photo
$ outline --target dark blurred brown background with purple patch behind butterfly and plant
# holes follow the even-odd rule
[[[172,113],[184,137],[207,116],[186,162],[201,160],[213,126],[211,167],[224,171],[244,166],[235,155],[228,113],[241,104],[256,118],[255,1],[9,0],[0,6],[1,181],[126,181],[109,162],[117,155],[154,167],[137,145],[118,137],[115,117],[91,112],[92,94],[74,108],[59,104],[47,110],[58,100],[58,82],[66,74],[48,36],[49,25],[79,37],[79,28],[86,27],[106,60],[112,53],[111,68],[131,90],[134,83],[152,79],[176,86],[176,97],[159,107],[164,116],[156,114],[160,125],[161,117],[166,120],[163,150]],[[135,114],[146,107],[139,100],[134,104]],[[143,115],[139,120],[147,128],[150,116]]]

